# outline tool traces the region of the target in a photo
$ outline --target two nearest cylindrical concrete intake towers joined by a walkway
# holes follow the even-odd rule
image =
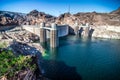
[[[59,39],[57,32],[57,25],[53,23],[51,28],[45,27],[45,23],[40,25],[40,42],[46,42],[46,30],[50,31],[50,47],[58,47]]]

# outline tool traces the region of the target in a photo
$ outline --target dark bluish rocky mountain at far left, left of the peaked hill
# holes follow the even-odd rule
[[[0,11],[0,26],[20,25],[25,21],[25,14]]]

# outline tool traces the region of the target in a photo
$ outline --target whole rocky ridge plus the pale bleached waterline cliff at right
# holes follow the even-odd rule
[[[120,39],[120,8],[110,13],[64,13],[58,17],[37,10],[33,10],[28,14],[0,11],[0,26],[21,24],[35,25],[41,22],[46,22],[47,25],[53,22],[57,24],[67,24],[70,26],[70,32],[72,33],[75,30],[74,25],[76,22],[78,26],[89,23],[94,30],[92,36]]]

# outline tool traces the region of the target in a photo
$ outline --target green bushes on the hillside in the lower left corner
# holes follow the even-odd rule
[[[2,49],[0,51],[0,79],[16,79],[16,75],[20,71],[35,71],[36,64],[33,62],[31,56],[15,56],[11,50]]]

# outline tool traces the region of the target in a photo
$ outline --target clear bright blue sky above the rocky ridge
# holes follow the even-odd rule
[[[36,9],[54,16],[70,12],[111,12],[120,0],[0,0],[1,11],[29,13]]]

